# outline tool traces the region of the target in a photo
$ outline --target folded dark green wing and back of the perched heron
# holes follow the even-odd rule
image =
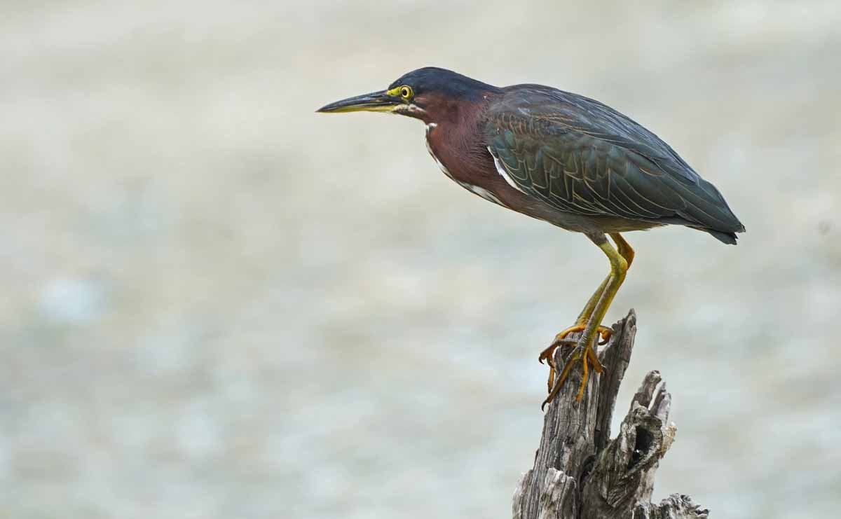
[[[743,230],[715,186],[611,107],[548,87],[507,90],[485,131],[497,168],[520,191],[586,216]]]

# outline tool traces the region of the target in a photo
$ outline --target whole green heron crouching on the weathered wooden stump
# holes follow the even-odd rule
[[[620,233],[683,225],[736,244],[736,233],[744,231],[716,187],[669,144],[613,108],[574,93],[542,85],[494,87],[426,67],[383,91],[318,111],[421,119],[430,155],[453,181],[497,205],[583,233],[606,254],[610,274],[573,326],[538,357],[549,365],[544,405],[576,363],[582,370],[577,400],[590,370],[603,371],[595,341],[610,338],[601,322],[634,258]],[[572,333],[580,334],[569,338]],[[558,370],[553,353],[564,344],[574,349]]]

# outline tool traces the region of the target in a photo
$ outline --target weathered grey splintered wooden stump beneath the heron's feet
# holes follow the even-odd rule
[[[611,439],[616,394],[636,333],[632,310],[613,325],[611,342],[599,355],[606,372],[591,378],[584,398],[575,401],[578,372],[549,405],[534,467],[514,492],[514,519],[706,518],[708,511],[688,495],[651,502],[654,472],[677,431],[669,422],[671,395],[658,371],[645,376]],[[567,353],[556,351],[557,365]]]

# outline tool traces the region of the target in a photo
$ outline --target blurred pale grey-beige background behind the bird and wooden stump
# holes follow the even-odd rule
[[[595,97],[748,228],[628,235],[655,497],[841,504],[838,2],[0,3],[0,517],[505,517],[606,272],[437,170],[405,71]]]

